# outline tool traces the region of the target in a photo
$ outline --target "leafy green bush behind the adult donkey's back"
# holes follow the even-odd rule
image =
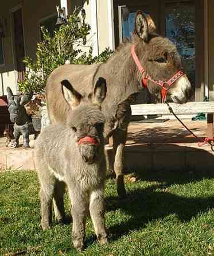
[[[111,55],[112,51],[106,48],[99,56],[92,57],[92,47],[88,53],[78,47],[86,44],[86,37],[91,30],[84,18],[79,17],[79,11],[80,8],[75,9],[67,23],[55,30],[53,37],[41,27],[42,41],[37,43],[36,61],[30,57],[24,60],[25,79],[18,84],[21,92],[44,94],[50,73],[67,61],[71,64],[94,64],[106,61]]]

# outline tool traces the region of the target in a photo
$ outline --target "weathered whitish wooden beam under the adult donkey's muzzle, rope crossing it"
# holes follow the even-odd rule
[[[175,114],[214,113],[214,102],[188,102],[185,104],[169,103]],[[164,103],[131,105],[132,115],[169,115],[169,108]]]

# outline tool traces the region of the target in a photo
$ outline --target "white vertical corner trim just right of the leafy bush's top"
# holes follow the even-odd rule
[[[96,0],[91,0],[91,34],[92,34],[93,56],[96,56],[96,55],[99,55],[98,13],[97,13]]]

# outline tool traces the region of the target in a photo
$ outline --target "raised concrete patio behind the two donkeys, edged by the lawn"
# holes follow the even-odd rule
[[[197,136],[207,137],[206,121],[183,120]],[[21,142],[22,138],[20,139]],[[35,169],[33,148],[9,149],[0,138],[0,169]],[[30,145],[33,147],[33,137]],[[112,159],[112,148],[106,146]],[[176,120],[166,122],[131,122],[124,149],[126,170],[211,170],[214,169],[211,146],[199,147],[197,139]]]

